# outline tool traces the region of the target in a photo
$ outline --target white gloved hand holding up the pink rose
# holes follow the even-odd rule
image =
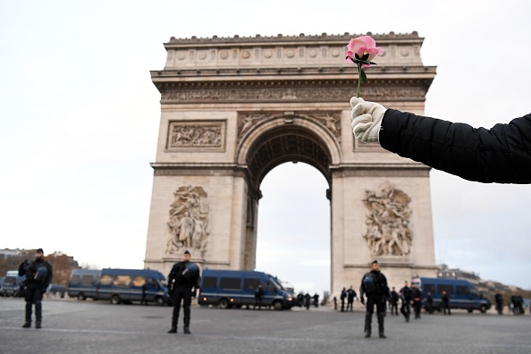
[[[352,106],[352,132],[363,142],[380,142],[380,127],[387,109],[375,102],[363,98],[350,98]]]

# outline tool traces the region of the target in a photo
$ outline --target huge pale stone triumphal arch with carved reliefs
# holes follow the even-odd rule
[[[168,274],[190,249],[203,268],[255,268],[260,183],[278,164],[299,161],[329,184],[333,293],[358,284],[374,258],[398,286],[434,275],[429,168],[352,136],[358,73],[345,62],[352,37],[164,44],[164,70],[151,72],[162,114],[146,267]],[[384,54],[367,70],[362,96],[423,114],[435,76],[420,58],[423,38],[373,37]]]

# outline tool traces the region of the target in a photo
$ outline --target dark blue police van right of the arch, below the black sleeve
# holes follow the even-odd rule
[[[431,292],[434,299],[434,309],[439,311],[443,308],[441,299],[443,291],[446,291],[450,297],[450,308],[462,308],[468,312],[479,310],[485,314],[492,306],[491,301],[479,293],[476,287],[467,280],[419,277],[413,278],[411,283],[422,289],[425,307],[427,293]]]

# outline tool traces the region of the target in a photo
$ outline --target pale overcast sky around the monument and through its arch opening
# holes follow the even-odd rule
[[[149,71],[171,37],[416,30],[437,66],[426,115],[490,128],[531,111],[529,13],[525,0],[1,1],[0,249],[143,266],[160,118]],[[433,171],[431,187],[437,262],[531,289],[529,186]],[[329,290],[327,188],[304,164],[265,177],[258,269]]]

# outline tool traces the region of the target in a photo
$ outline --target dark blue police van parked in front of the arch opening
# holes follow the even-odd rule
[[[270,274],[208,268],[202,274],[198,304],[219,308],[254,305],[258,284],[262,285],[264,290],[262,306],[282,310],[296,305],[293,293],[284,289],[281,282]]]

